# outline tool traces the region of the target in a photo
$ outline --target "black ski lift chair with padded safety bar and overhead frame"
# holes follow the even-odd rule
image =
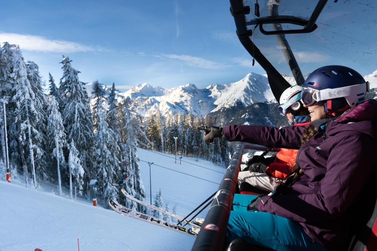
[[[291,85],[284,79],[284,77],[282,77],[282,75],[275,69],[270,61],[267,60],[259,48],[255,46],[253,41],[250,39],[250,37],[253,35],[253,30],[248,29],[247,26],[254,25],[254,30],[257,28],[257,26],[259,26],[259,30],[262,34],[276,35],[276,39],[283,51],[285,59],[288,62],[293,77],[296,80],[296,83],[301,85],[304,81],[302,77],[303,75],[293,52],[291,51],[291,47],[285,38],[285,34],[309,33],[314,31],[317,28],[316,20],[325,7],[327,0],[319,0],[317,2],[309,19],[289,15],[279,15],[279,4],[273,4],[270,6],[271,9],[269,8],[269,14],[267,17],[259,18],[259,5],[255,3],[254,15],[258,18],[249,21],[246,20],[245,15],[250,14],[250,6],[244,6],[244,2],[245,1],[230,0],[230,12],[234,17],[237,36],[247,52],[253,57],[253,65],[255,59],[267,72],[268,83],[270,84],[275,99],[279,102],[281,93],[283,93],[284,90]],[[334,2],[336,3],[337,0],[334,0]],[[278,3],[280,3],[280,1],[278,1]],[[264,24],[272,24],[273,30],[266,31],[263,28]],[[303,28],[283,30],[283,25],[286,26],[287,24],[302,26]],[[213,199],[210,210],[205,217],[203,227],[195,240],[192,250],[269,250],[264,247],[251,245],[250,243],[247,243],[241,239],[233,240],[229,245],[225,244],[227,222],[229,219],[233,195],[237,189],[237,177],[244,147],[248,148],[250,146],[237,146],[236,152],[232,156],[230,165],[224,174],[224,178],[221,181],[218,193]],[[358,219],[358,222],[351,222],[351,229],[354,230],[354,234],[349,240],[349,243],[345,243],[343,250],[377,250],[377,193],[375,192],[374,183],[375,182],[373,182],[371,179],[364,190],[365,192],[361,193],[359,196],[360,203],[354,203],[354,205],[357,205],[359,208],[350,208],[348,212],[345,212],[348,213],[349,217],[352,217],[352,213],[358,212],[363,216],[363,218],[361,220]]]

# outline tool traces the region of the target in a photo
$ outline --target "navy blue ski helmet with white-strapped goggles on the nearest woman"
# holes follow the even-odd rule
[[[301,101],[313,106],[323,102],[326,114],[337,116],[349,107],[362,103],[369,83],[356,70],[349,67],[330,65],[316,69],[303,83]]]

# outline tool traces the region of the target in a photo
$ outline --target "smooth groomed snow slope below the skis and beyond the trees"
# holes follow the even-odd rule
[[[223,174],[166,158],[139,149],[141,160],[182,171],[219,183]],[[171,155],[170,155],[171,156]],[[174,155],[173,155],[174,156]],[[185,161],[224,172],[208,161],[197,158],[183,158]],[[149,166],[140,162],[140,169],[149,201]],[[2,175],[5,176],[5,175]],[[0,181],[0,250],[190,250],[195,238],[169,229],[132,219],[114,211],[98,207],[84,198],[68,199],[69,191],[64,188],[63,197],[52,192],[52,184],[42,184],[37,190],[25,188],[23,177],[9,184],[5,177]],[[177,204],[177,214],[185,216],[199,205],[218,185],[176,173],[152,165],[152,197],[161,188],[164,204],[169,202],[170,210]],[[152,200],[153,201],[153,200]],[[205,211],[205,213],[207,210]],[[204,217],[205,213],[201,216]]]

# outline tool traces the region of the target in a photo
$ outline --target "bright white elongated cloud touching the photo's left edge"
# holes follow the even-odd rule
[[[64,40],[52,40],[41,36],[34,36],[28,34],[0,32],[0,42],[18,44],[22,50],[28,51],[63,53],[108,51],[99,46],[86,46],[75,42]]]

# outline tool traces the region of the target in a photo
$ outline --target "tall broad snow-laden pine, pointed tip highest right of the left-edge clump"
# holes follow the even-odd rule
[[[75,140],[81,165],[84,168],[84,192],[88,191],[90,179],[97,175],[97,156],[93,133],[90,100],[84,88],[84,83],[78,79],[78,70],[71,66],[69,57],[63,56],[63,77],[59,87],[63,108],[63,124],[67,140]],[[63,81],[64,80],[64,81]],[[88,199],[90,196],[88,196]]]

